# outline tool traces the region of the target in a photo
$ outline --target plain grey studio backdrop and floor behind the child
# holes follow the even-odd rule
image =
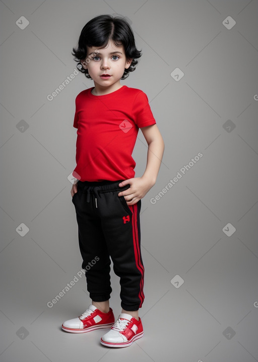
[[[257,361],[257,0],[4,0],[0,11],[1,362]],[[47,95],[73,73],[86,22],[115,13],[143,50],[121,84],[147,93],[165,141],[157,183],[142,200],[145,336],[122,349],[100,345],[105,330],[61,331],[89,305],[84,276],[47,306],[81,269],[68,178],[75,97],[93,82],[80,73]],[[171,76],[176,68],[181,79]],[[146,156],[140,131],[136,176]]]

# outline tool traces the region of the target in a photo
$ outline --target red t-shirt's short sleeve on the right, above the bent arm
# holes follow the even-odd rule
[[[148,97],[143,91],[139,92],[135,98],[132,114],[134,121],[139,128],[156,124]]]

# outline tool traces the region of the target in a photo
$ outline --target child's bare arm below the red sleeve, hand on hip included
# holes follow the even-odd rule
[[[164,152],[164,141],[156,124],[143,127],[141,130],[148,143],[145,172],[142,177],[119,183],[120,187],[130,184],[130,188],[118,193],[118,196],[124,196],[128,205],[137,203],[155,185]]]

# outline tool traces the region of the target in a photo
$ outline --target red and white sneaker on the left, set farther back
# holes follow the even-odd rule
[[[98,308],[90,304],[86,312],[78,318],[63,322],[62,329],[71,333],[86,333],[100,328],[110,328],[114,323],[112,309],[108,313],[100,312]]]

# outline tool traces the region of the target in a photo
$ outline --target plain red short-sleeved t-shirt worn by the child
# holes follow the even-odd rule
[[[126,85],[105,95],[94,95],[92,89],[83,90],[75,100],[78,130],[73,176],[80,181],[133,178],[132,153],[139,128],[156,123],[148,97]]]

